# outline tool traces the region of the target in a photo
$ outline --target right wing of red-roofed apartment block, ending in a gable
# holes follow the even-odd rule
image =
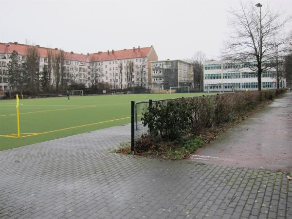
[[[89,54],[89,69],[98,73],[98,80],[107,82],[111,88],[124,89],[130,86],[129,63],[132,62],[131,86],[151,88],[150,61],[158,60],[153,46]],[[90,86],[90,82],[88,84]]]

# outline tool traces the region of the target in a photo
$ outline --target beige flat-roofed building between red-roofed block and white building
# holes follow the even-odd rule
[[[152,90],[193,87],[192,65],[183,60],[151,61]]]

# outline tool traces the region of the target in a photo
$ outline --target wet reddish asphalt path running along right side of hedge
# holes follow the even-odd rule
[[[292,172],[292,92],[196,151],[191,160]]]

